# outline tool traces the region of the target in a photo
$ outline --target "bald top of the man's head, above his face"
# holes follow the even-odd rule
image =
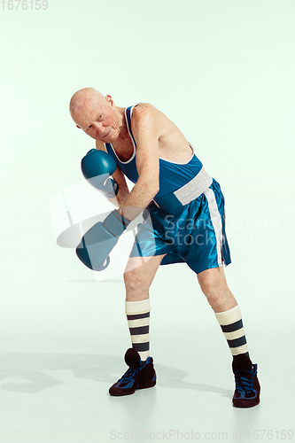
[[[70,101],[70,113],[72,119],[77,123],[79,116],[89,107],[95,108],[100,105],[105,105],[105,102],[105,97],[97,89],[83,88],[77,90]]]

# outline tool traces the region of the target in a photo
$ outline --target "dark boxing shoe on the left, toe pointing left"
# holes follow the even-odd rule
[[[117,383],[110,387],[111,395],[129,395],[136,392],[136,389],[156,385],[157,377],[151,357],[142,362],[137,351],[130,347],[125,354],[125,362],[129,369]]]

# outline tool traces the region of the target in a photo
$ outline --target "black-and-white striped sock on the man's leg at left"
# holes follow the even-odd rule
[[[142,361],[146,361],[150,356],[150,310],[150,299],[125,301],[132,347]]]

